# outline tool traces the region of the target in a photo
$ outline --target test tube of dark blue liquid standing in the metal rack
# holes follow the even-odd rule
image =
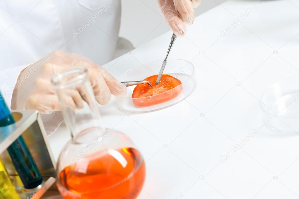
[[[15,120],[0,93],[0,126],[7,126],[14,123]],[[26,189],[32,189],[42,184],[42,175],[22,136],[19,136],[7,148],[7,151]]]

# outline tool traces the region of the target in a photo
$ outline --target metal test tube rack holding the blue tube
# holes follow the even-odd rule
[[[5,158],[5,150],[19,136],[23,136],[30,153],[36,162],[36,165],[43,177],[41,185],[34,189],[21,189],[18,191],[21,199],[34,198],[39,199],[49,189],[57,190],[56,181],[56,161],[52,154],[51,147],[48,143],[47,134],[42,119],[35,110],[13,111],[13,118],[16,123],[0,127],[0,154],[4,165],[7,168],[12,179],[18,178],[13,171],[12,163],[9,158]],[[17,147],[17,146],[16,146]],[[10,165],[10,166],[9,166]]]

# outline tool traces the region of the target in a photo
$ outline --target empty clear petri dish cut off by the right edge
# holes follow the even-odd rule
[[[299,134],[299,75],[273,84],[262,95],[260,105],[268,128]]]

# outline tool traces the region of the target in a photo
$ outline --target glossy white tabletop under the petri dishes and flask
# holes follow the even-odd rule
[[[259,101],[273,83],[299,74],[298,20],[295,0],[227,1],[197,17],[170,53],[196,68],[198,85],[186,100],[146,114],[122,113],[114,102],[101,108],[106,126],[129,135],[144,156],[139,198],[299,197],[299,136],[269,130]],[[161,35],[104,67],[117,76],[164,59],[170,37]],[[255,130],[242,149],[220,161]],[[62,127],[50,136],[56,154],[67,134]]]

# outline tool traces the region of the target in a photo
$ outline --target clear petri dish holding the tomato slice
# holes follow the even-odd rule
[[[133,68],[129,71],[126,71],[125,73],[121,74],[118,77],[119,81],[138,81],[138,80],[144,80],[145,78],[155,75],[160,71],[161,65],[163,63],[163,60],[157,60],[152,61],[149,63],[146,63],[144,65],[138,66],[136,68]],[[187,98],[196,88],[196,77],[194,74],[194,66],[192,63],[181,60],[181,59],[168,59],[167,65],[164,69],[164,74],[172,75],[173,77],[179,79],[181,81],[181,85],[177,86],[176,88],[173,88],[169,91],[166,91],[161,94],[155,95],[155,97],[161,97],[161,95],[165,94],[171,94],[171,92],[176,92],[178,89],[181,89],[181,92],[178,96],[175,98],[163,102],[160,104],[152,105],[152,106],[136,106],[133,103],[133,100],[145,101],[147,100],[147,97],[142,98],[134,98],[132,99],[132,92],[136,86],[129,86],[128,92],[126,96],[124,97],[117,97],[116,98],[116,107],[123,112],[126,113],[146,113],[146,112],[152,112],[152,111],[158,111],[167,107],[170,107],[172,105],[175,105],[185,98]],[[178,88],[181,87],[181,88]]]

